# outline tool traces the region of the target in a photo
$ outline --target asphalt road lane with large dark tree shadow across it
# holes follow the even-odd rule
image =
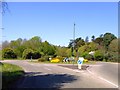
[[[23,60],[5,60],[4,62],[19,65],[25,70],[25,77],[16,82],[16,88],[116,88],[87,70]]]

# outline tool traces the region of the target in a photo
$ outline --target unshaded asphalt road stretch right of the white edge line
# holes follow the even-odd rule
[[[90,65],[88,70],[96,76],[107,80],[114,86],[118,86],[118,75],[120,75],[120,72],[118,72],[120,70],[118,63],[97,62],[95,65]]]

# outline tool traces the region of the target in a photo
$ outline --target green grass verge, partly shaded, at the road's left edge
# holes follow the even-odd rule
[[[0,72],[2,72],[2,87],[8,88],[12,83],[18,80],[24,75],[24,71],[21,67],[3,63],[0,65]]]

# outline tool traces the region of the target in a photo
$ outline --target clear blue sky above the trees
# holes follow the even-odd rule
[[[67,46],[75,38],[85,39],[110,32],[118,37],[117,2],[9,2],[3,15],[2,40],[30,39]]]

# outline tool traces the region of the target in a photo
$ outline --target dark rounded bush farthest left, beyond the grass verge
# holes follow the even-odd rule
[[[2,57],[5,59],[15,59],[15,58],[17,58],[17,55],[15,54],[13,49],[5,48],[5,49],[3,49]]]

